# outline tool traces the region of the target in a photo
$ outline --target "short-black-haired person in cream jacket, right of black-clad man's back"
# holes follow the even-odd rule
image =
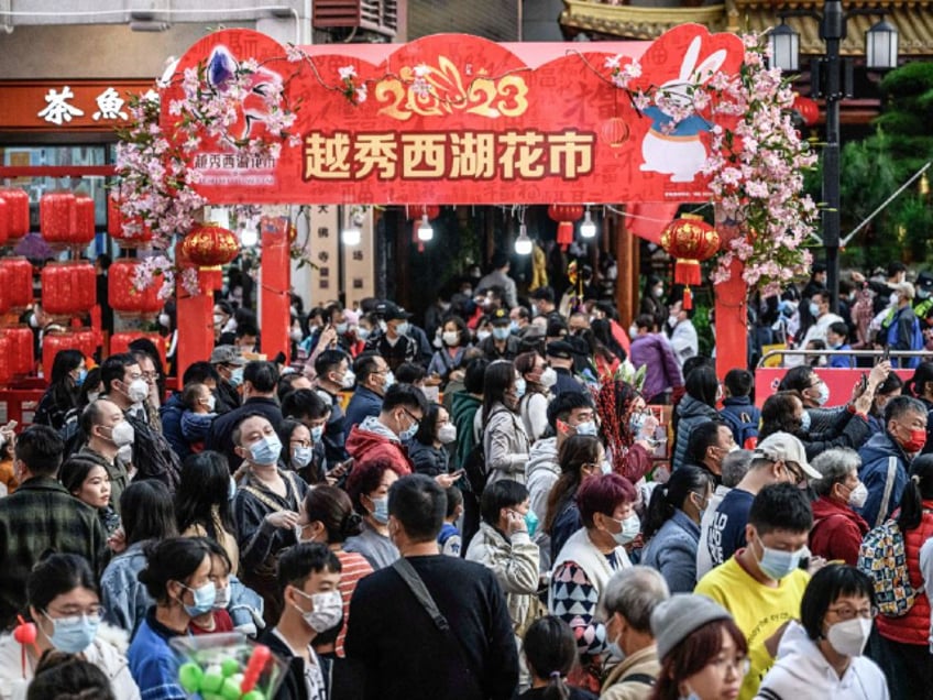
[[[529,507],[528,490],[516,481],[503,479],[483,491],[480,532],[470,540],[466,561],[490,569],[505,591],[508,615],[515,630],[515,644],[522,650],[525,631],[540,615],[538,546],[531,536],[538,518]],[[519,690],[530,683],[522,669]]]

